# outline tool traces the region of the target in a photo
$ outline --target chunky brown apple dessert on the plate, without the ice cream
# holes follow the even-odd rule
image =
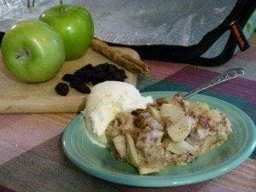
[[[230,120],[206,103],[181,95],[158,99],[146,109],[119,113],[108,125],[108,148],[139,174],[160,172],[167,165],[187,164],[224,143]]]

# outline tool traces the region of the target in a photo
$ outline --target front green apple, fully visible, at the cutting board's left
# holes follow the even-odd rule
[[[65,61],[61,35],[40,20],[23,20],[3,36],[4,66],[24,83],[52,79]]]

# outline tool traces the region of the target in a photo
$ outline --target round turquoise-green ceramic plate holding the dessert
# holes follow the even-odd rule
[[[154,98],[173,94],[172,91],[143,93],[144,96]],[[230,118],[233,132],[223,145],[208,151],[189,165],[166,166],[162,172],[140,176],[133,166],[115,159],[108,148],[101,148],[90,142],[84,129],[82,114],[73,119],[64,131],[62,138],[64,151],[69,160],[93,176],[114,183],[144,187],[202,182],[229,172],[253,153],[256,145],[256,127],[246,113],[228,102],[211,96],[195,95],[190,98],[190,101],[207,102],[211,108],[225,113]]]

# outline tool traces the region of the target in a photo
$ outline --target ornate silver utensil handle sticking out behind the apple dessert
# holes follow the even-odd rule
[[[206,90],[207,88],[210,88],[216,84],[220,84],[224,81],[230,80],[230,79],[234,79],[237,77],[240,77],[244,74],[244,71],[242,68],[231,68],[228,71],[225,71],[224,73],[222,73],[221,75],[219,75],[218,77],[212,79],[209,83],[207,84],[202,84],[200,87],[196,88],[195,90],[191,90],[189,91],[189,93],[185,94],[183,96],[183,98],[188,98],[189,96],[193,96],[196,93],[200,92],[201,90]]]

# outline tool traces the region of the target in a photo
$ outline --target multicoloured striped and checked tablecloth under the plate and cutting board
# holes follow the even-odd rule
[[[246,75],[220,84],[203,94],[230,102],[256,122],[256,35],[253,47],[220,67],[147,61],[152,75],[138,80],[137,88],[188,91],[230,67]],[[0,191],[256,191],[256,154],[227,174],[203,183],[170,188],[137,188],[109,183],[80,171],[61,147],[62,132],[77,114],[32,113],[0,115]],[[256,139],[256,138],[255,138]]]

